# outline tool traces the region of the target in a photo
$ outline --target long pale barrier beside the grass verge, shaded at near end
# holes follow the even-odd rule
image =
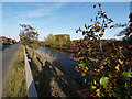
[[[24,59],[25,59],[25,74],[26,74],[28,97],[29,98],[35,97],[36,99],[38,99],[38,96],[37,96],[37,92],[36,92],[36,88],[35,88],[35,84],[34,84],[34,80],[33,80],[33,77],[32,77],[30,64],[29,64],[29,61],[28,61],[25,47],[23,47],[23,48],[24,48]]]

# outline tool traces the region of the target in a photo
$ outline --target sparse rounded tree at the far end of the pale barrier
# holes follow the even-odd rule
[[[23,45],[31,46],[33,43],[36,43],[38,40],[38,33],[35,32],[35,29],[28,24],[20,24],[20,42]]]

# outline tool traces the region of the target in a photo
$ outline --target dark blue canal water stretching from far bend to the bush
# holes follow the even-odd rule
[[[72,58],[72,53],[62,52],[53,47],[40,47],[38,51],[44,54],[50,53],[53,57],[56,57],[54,62],[57,67],[82,86],[84,77],[80,76],[81,73],[75,72],[76,63]]]

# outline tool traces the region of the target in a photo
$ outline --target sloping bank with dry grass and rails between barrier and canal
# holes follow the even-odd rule
[[[52,97],[62,97],[62,92],[65,94],[66,97],[78,96],[77,90],[82,88],[72,79],[72,76],[63,73],[53,64],[56,58],[52,57],[47,53],[45,55],[37,50],[30,47],[26,47],[26,50],[29,53],[33,78],[35,82],[38,84],[36,87],[38,96],[53,95]],[[56,94],[58,96],[56,96]]]

